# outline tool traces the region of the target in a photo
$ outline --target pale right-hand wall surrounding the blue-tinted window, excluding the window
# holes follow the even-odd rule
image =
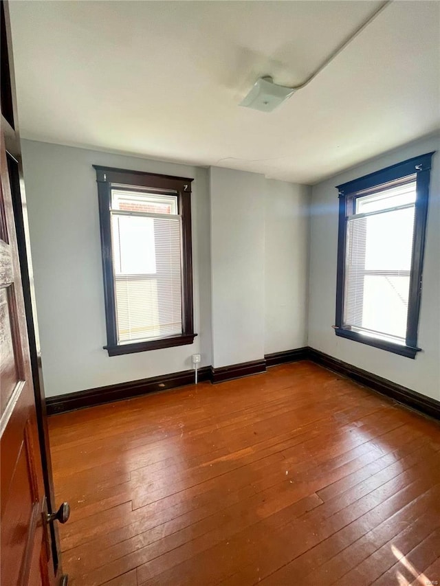
[[[438,137],[415,142],[314,185],[311,199],[309,346],[385,379],[440,400],[440,153],[431,170],[430,203],[423,268],[419,347],[415,360],[336,337],[338,193],[335,185],[410,157],[440,150]]]

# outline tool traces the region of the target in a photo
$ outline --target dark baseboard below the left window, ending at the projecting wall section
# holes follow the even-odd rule
[[[113,403],[123,399],[133,398],[148,393],[174,389],[194,383],[194,370],[182,370],[162,376],[153,376],[150,379],[118,383],[107,387],[87,389],[65,395],[57,395],[46,398],[47,415],[65,413],[83,407],[94,407],[103,403]],[[199,368],[198,379],[200,382],[210,380],[210,366]]]

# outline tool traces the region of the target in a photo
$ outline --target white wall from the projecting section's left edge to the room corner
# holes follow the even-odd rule
[[[214,367],[306,345],[310,192],[210,168]]]

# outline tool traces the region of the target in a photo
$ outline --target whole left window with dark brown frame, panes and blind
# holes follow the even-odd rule
[[[192,179],[94,166],[109,356],[190,344]]]

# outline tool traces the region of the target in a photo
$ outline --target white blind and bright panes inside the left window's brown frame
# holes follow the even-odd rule
[[[177,196],[113,189],[111,240],[118,343],[182,333]]]

